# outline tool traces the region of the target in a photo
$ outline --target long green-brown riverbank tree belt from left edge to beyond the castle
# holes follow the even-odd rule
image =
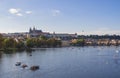
[[[27,39],[16,39],[16,38],[3,38],[0,35],[0,50],[6,49],[28,49],[28,48],[44,48],[44,47],[60,47],[61,40],[55,38],[27,38]]]

